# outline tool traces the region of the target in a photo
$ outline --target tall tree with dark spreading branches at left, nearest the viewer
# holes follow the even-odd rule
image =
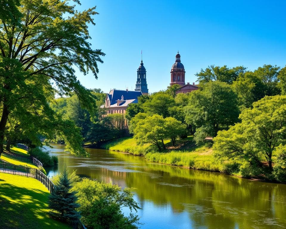
[[[43,114],[39,116],[41,121],[54,117],[50,128],[55,128],[58,134],[78,131],[71,128],[71,123],[61,122],[50,109],[41,109],[40,104],[46,106],[47,97],[55,95],[54,82],[58,94],[73,91],[83,107],[92,109],[94,96],[77,81],[74,66],[84,74],[91,71],[97,78],[97,62],[102,62],[100,56],[104,53],[91,49],[88,43],[87,24],[94,24],[95,7],[78,12],[69,1],[60,0],[1,1],[0,4],[4,9],[0,14],[1,154],[8,116],[16,107],[26,108],[26,113]],[[39,104],[38,110],[33,107],[34,103]],[[64,125],[69,130],[64,131],[61,127]],[[66,136],[67,149],[78,147],[80,143],[68,140],[74,137]]]

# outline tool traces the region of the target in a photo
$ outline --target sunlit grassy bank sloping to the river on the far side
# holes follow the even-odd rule
[[[178,139],[175,146],[170,141],[165,141],[166,150],[158,152],[151,145],[138,146],[132,137],[120,138],[102,145],[102,148],[129,152],[136,155],[144,155],[147,160],[169,165],[184,166],[187,168],[202,169],[208,171],[222,171],[221,164],[217,162],[212,149],[208,146],[196,146],[193,137]]]

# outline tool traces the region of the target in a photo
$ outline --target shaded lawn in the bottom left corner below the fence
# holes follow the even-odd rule
[[[49,218],[49,195],[38,180],[0,173],[0,228],[71,228]]]

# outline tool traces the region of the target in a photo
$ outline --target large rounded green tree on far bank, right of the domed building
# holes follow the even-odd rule
[[[196,126],[195,140],[215,137],[220,128],[228,128],[238,121],[237,96],[224,82],[209,81],[200,90],[190,93],[185,107],[186,123]]]

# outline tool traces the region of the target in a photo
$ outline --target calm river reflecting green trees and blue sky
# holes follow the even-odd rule
[[[286,228],[286,185],[246,180],[148,162],[144,157],[86,148],[75,157],[53,144],[59,163],[48,176],[76,170],[80,177],[136,188],[142,229]]]

